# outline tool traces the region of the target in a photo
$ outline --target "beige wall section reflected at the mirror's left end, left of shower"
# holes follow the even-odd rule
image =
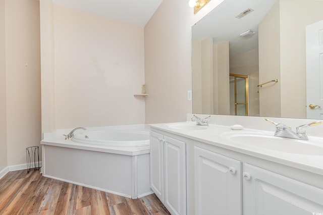
[[[192,41],[193,113],[229,114],[229,42]]]

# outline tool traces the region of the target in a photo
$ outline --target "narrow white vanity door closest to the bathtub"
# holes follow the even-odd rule
[[[164,203],[163,135],[150,131],[150,188]]]

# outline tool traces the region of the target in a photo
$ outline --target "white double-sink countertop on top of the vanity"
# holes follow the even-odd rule
[[[182,122],[182,123],[192,124],[191,122]],[[159,130],[180,135],[186,138],[208,143],[214,146],[226,148],[243,154],[262,158],[265,160],[270,160],[272,162],[276,162],[286,166],[323,175],[323,153],[320,154],[320,150],[312,154],[293,153],[293,152],[287,151],[288,149],[286,150],[286,148],[285,148],[285,151],[270,150],[270,149],[265,149],[261,147],[254,147],[255,146],[254,143],[252,145],[239,144],[236,141],[234,142],[229,139],[223,138],[223,134],[227,132],[235,132],[235,133],[260,132],[265,135],[272,135],[273,139],[274,138],[281,139],[282,137],[274,137],[274,131],[264,131],[264,130],[247,129],[247,128],[244,128],[243,130],[232,130],[230,126],[222,126],[222,125],[215,125],[215,124],[209,124],[207,129],[203,129],[203,130],[182,130],[182,129],[171,128],[170,127],[171,124],[176,124],[176,123],[149,124],[149,126],[151,128],[159,129]],[[304,144],[305,148],[308,145],[313,145],[318,148],[322,147],[322,151],[323,151],[323,138],[312,137],[312,136],[308,136],[308,138],[309,138],[308,141],[304,141],[304,140],[301,141],[301,144],[305,142]],[[283,138],[283,139],[286,139],[286,138]],[[296,143],[299,143],[297,142],[298,140],[294,140],[294,139],[288,139],[288,141],[296,141]],[[293,151],[292,149],[293,148],[291,148],[291,151]]]

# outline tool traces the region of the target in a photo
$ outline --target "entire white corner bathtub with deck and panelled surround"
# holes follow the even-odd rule
[[[65,140],[70,130],[44,134],[43,176],[130,198],[152,193],[143,125],[87,128]]]

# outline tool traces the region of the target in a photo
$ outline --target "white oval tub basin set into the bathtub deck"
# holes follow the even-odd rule
[[[138,147],[149,145],[149,131],[101,130],[77,133],[72,141],[89,145]]]

